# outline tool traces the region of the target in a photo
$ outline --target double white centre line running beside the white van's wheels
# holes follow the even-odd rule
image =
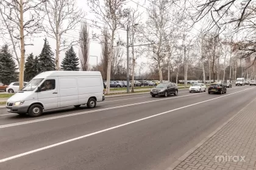
[[[201,94],[204,94],[204,93],[201,93]],[[4,127],[18,126],[18,125],[21,125],[21,124],[35,123],[35,122],[38,122],[38,121],[46,121],[46,120],[52,120],[52,119],[56,119],[56,118],[71,117],[71,116],[74,116],[74,115],[82,115],[82,114],[88,114],[88,113],[92,113],[92,112],[99,112],[99,111],[103,111],[103,110],[110,110],[110,109],[117,109],[117,108],[121,108],[121,107],[135,106],[135,105],[138,105],[138,104],[152,103],[152,102],[155,102],[155,101],[172,100],[172,99],[176,99],[176,98],[188,97],[188,96],[193,96],[193,95],[199,95],[199,94],[191,94],[191,95],[183,95],[183,96],[179,96],[179,97],[162,98],[162,99],[157,99],[157,100],[143,101],[143,102],[140,102],[140,103],[124,104],[124,105],[121,105],[121,106],[107,107],[107,108],[104,108],[104,109],[96,109],[96,110],[90,110],[90,111],[79,112],[79,113],[74,113],[74,114],[60,115],[60,116],[56,116],[56,117],[41,118],[41,119],[38,119],[38,120],[30,120],[30,121],[22,121],[22,122],[12,123],[12,124],[4,124],[4,125],[0,126],[0,129],[2,129]]]

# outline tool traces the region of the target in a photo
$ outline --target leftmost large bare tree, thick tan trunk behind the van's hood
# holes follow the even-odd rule
[[[1,4],[1,16],[5,20],[5,25],[9,29],[10,37],[12,36],[13,49],[15,49],[14,39],[20,41],[19,47],[21,52],[20,57],[20,89],[23,88],[24,81],[24,64],[25,64],[25,46],[33,45],[31,43],[26,44],[26,40],[31,38],[34,33],[37,33],[41,29],[41,19],[43,15],[41,12],[41,4],[44,1],[32,1],[32,0],[2,0]],[[3,12],[4,11],[4,12]],[[24,21],[24,15],[26,15],[26,21]],[[19,58],[16,55],[16,60]]]

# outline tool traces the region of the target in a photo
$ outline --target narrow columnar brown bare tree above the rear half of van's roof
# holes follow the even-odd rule
[[[89,27],[87,22],[81,25],[79,33],[79,58],[82,65],[81,69],[83,71],[88,70],[88,59],[89,59],[89,48],[90,48],[90,37],[89,37]]]

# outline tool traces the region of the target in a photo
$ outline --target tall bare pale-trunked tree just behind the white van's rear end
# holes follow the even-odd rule
[[[108,57],[107,67],[107,94],[110,94],[110,73],[113,58],[113,44],[115,34],[118,29],[124,27],[126,21],[124,18],[128,15],[128,10],[124,9],[124,0],[88,0],[91,12],[104,24],[108,25],[110,38],[110,55]]]

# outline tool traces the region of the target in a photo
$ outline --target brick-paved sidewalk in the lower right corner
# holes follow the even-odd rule
[[[256,100],[166,170],[256,169],[255,110]]]

